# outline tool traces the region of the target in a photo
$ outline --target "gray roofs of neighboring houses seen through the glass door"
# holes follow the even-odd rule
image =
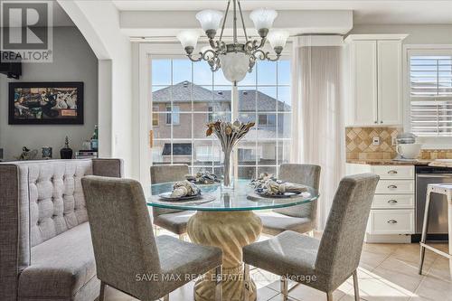
[[[259,103],[259,111],[275,111],[278,105],[278,111],[290,110],[290,106],[282,101],[274,99],[265,93],[256,89],[240,89],[240,111],[255,111],[256,99]],[[183,103],[193,95],[194,102],[212,102],[231,104],[231,90],[210,90],[202,86],[193,84],[190,81],[182,81],[173,86],[158,89],[152,93],[154,103]]]

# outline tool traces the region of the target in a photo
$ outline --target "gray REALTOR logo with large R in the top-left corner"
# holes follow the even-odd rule
[[[2,1],[1,61],[52,61],[52,1]]]

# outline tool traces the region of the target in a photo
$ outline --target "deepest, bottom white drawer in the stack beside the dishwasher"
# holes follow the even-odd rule
[[[369,217],[369,234],[414,233],[414,210],[372,210]]]

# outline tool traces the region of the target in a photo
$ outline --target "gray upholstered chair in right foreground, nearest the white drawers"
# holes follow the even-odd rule
[[[356,269],[378,180],[376,174],[355,174],[342,179],[321,240],[285,231],[244,247],[245,283],[252,265],[283,276],[284,300],[288,277],[325,292],[327,300],[332,301],[333,291],[353,275],[354,298],[360,300]]]

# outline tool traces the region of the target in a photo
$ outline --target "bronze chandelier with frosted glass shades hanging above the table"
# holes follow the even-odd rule
[[[224,25],[232,2],[233,13],[233,42],[222,41]],[[240,21],[243,28],[245,42],[239,42],[237,37],[237,8],[239,8]],[[278,13],[271,9],[259,8],[250,13],[255,28],[257,29],[259,40],[250,40],[247,35],[243,13],[240,7],[240,0],[228,0],[226,12],[223,14],[215,10],[203,10],[196,14],[196,19],[200,22],[202,30],[209,39],[210,46],[203,47],[201,52],[195,56],[194,49],[200,34],[197,31],[184,31],[177,35],[177,39],[182,43],[184,50],[191,61],[207,61],[212,71],[221,71],[227,80],[237,83],[243,80],[247,72],[251,72],[256,61],[278,61],[286,45],[288,33],[286,31],[270,31]],[[221,19],[222,24],[221,24]],[[215,40],[217,29],[221,24],[220,38]],[[274,50],[274,55],[265,52],[263,47],[269,42]]]

